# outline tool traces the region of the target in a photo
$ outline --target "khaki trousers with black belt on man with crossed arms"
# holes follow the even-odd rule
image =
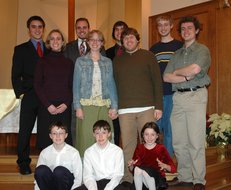
[[[205,133],[208,92],[175,92],[171,114],[178,179],[205,184]]]

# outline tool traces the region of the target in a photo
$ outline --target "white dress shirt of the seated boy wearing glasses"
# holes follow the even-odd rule
[[[82,161],[79,151],[69,144],[65,144],[61,151],[57,151],[53,144],[42,150],[39,155],[37,166],[46,165],[52,171],[57,166],[67,168],[74,175],[74,184],[71,189],[81,185],[82,182]],[[35,189],[39,189],[35,182]]]

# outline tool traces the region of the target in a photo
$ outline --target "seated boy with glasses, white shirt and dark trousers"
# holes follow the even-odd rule
[[[70,190],[81,185],[82,161],[78,150],[65,143],[67,127],[62,122],[50,126],[53,144],[42,150],[35,169],[35,190]]]

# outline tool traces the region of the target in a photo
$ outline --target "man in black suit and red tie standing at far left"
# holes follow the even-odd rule
[[[16,98],[21,99],[17,164],[22,175],[31,173],[30,137],[36,121],[39,100],[33,88],[35,65],[46,53],[42,40],[45,22],[39,16],[27,20],[30,40],[14,48],[11,80]]]

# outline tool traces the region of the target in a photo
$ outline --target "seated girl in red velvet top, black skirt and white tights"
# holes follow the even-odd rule
[[[176,172],[167,149],[158,144],[159,134],[155,122],[146,123],[141,130],[143,143],[136,147],[132,160],[128,162],[128,167],[134,172],[136,190],[142,190],[143,185],[149,190],[167,189],[165,171]]]

